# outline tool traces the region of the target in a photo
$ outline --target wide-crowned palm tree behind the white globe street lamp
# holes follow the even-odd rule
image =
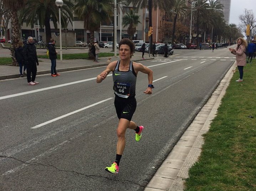
[[[73,20],[73,6],[72,0],[63,0],[63,6],[61,7],[61,10],[63,10],[61,11],[62,24],[65,23],[66,18]],[[48,43],[52,38],[50,20],[53,21],[54,27],[57,28],[58,12],[55,0],[27,0],[26,8],[22,11],[22,21],[26,21],[27,26],[30,25],[33,28],[37,16],[40,26],[45,26],[46,42]]]

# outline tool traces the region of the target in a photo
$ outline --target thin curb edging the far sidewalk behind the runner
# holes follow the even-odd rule
[[[145,60],[153,60],[154,58],[148,58],[148,59],[138,59],[138,60],[133,60],[134,62],[139,62],[139,61],[145,61]],[[40,64],[39,64],[40,65]],[[63,68],[63,69],[57,69],[57,72],[64,72],[64,71],[72,71],[72,70],[81,70],[81,69],[87,69],[87,68],[94,68],[94,67],[100,67],[100,66],[107,66],[108,64],[94,64],[94,65],[89,65],[89,66],[77,66],[77,67],[69,67],[69,68]],[[12,66],[10,66],[12,67]],[[44,70],[44,71],[37,71],[37,75],[41,74],[46,74],[46,73],[51,73],[51,70]],[[11,74],[11,75],[5,75],[5,76],[0,76],[0,80],[6,80],[10,78],[20,78],[20,74]]]

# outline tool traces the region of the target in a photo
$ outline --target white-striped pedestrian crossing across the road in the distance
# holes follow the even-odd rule
[[[169,58],[155,58],[154,60],[150,60],[151,62],[167,62],[170,60],[203,60],[203,61],[207,61],[207,60],[220,60],[220,61],[235,61],[236,57],[214,57],[214,56],[210,56],[210,57],[204,57],[204,56],[170,56]]]

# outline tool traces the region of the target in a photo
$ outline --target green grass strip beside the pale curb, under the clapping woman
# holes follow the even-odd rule
[[[186,179],[186,191],[256,191],[256,61],[236,69],[204,135],[202,153]],[[253,118],[252,118],[252,117]]]

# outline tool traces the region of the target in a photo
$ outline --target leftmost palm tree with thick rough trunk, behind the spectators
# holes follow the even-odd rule
[[[16,59],[14,56],[14,47],[21,41],[21,25],[19,22],[19,11],[25,6],[26,0],[2,0],[2,4],[8,10],[10,10],[11,15],[11,58],[12,65],[16,65]],[[2,17],[2,16],[1,16]]]

